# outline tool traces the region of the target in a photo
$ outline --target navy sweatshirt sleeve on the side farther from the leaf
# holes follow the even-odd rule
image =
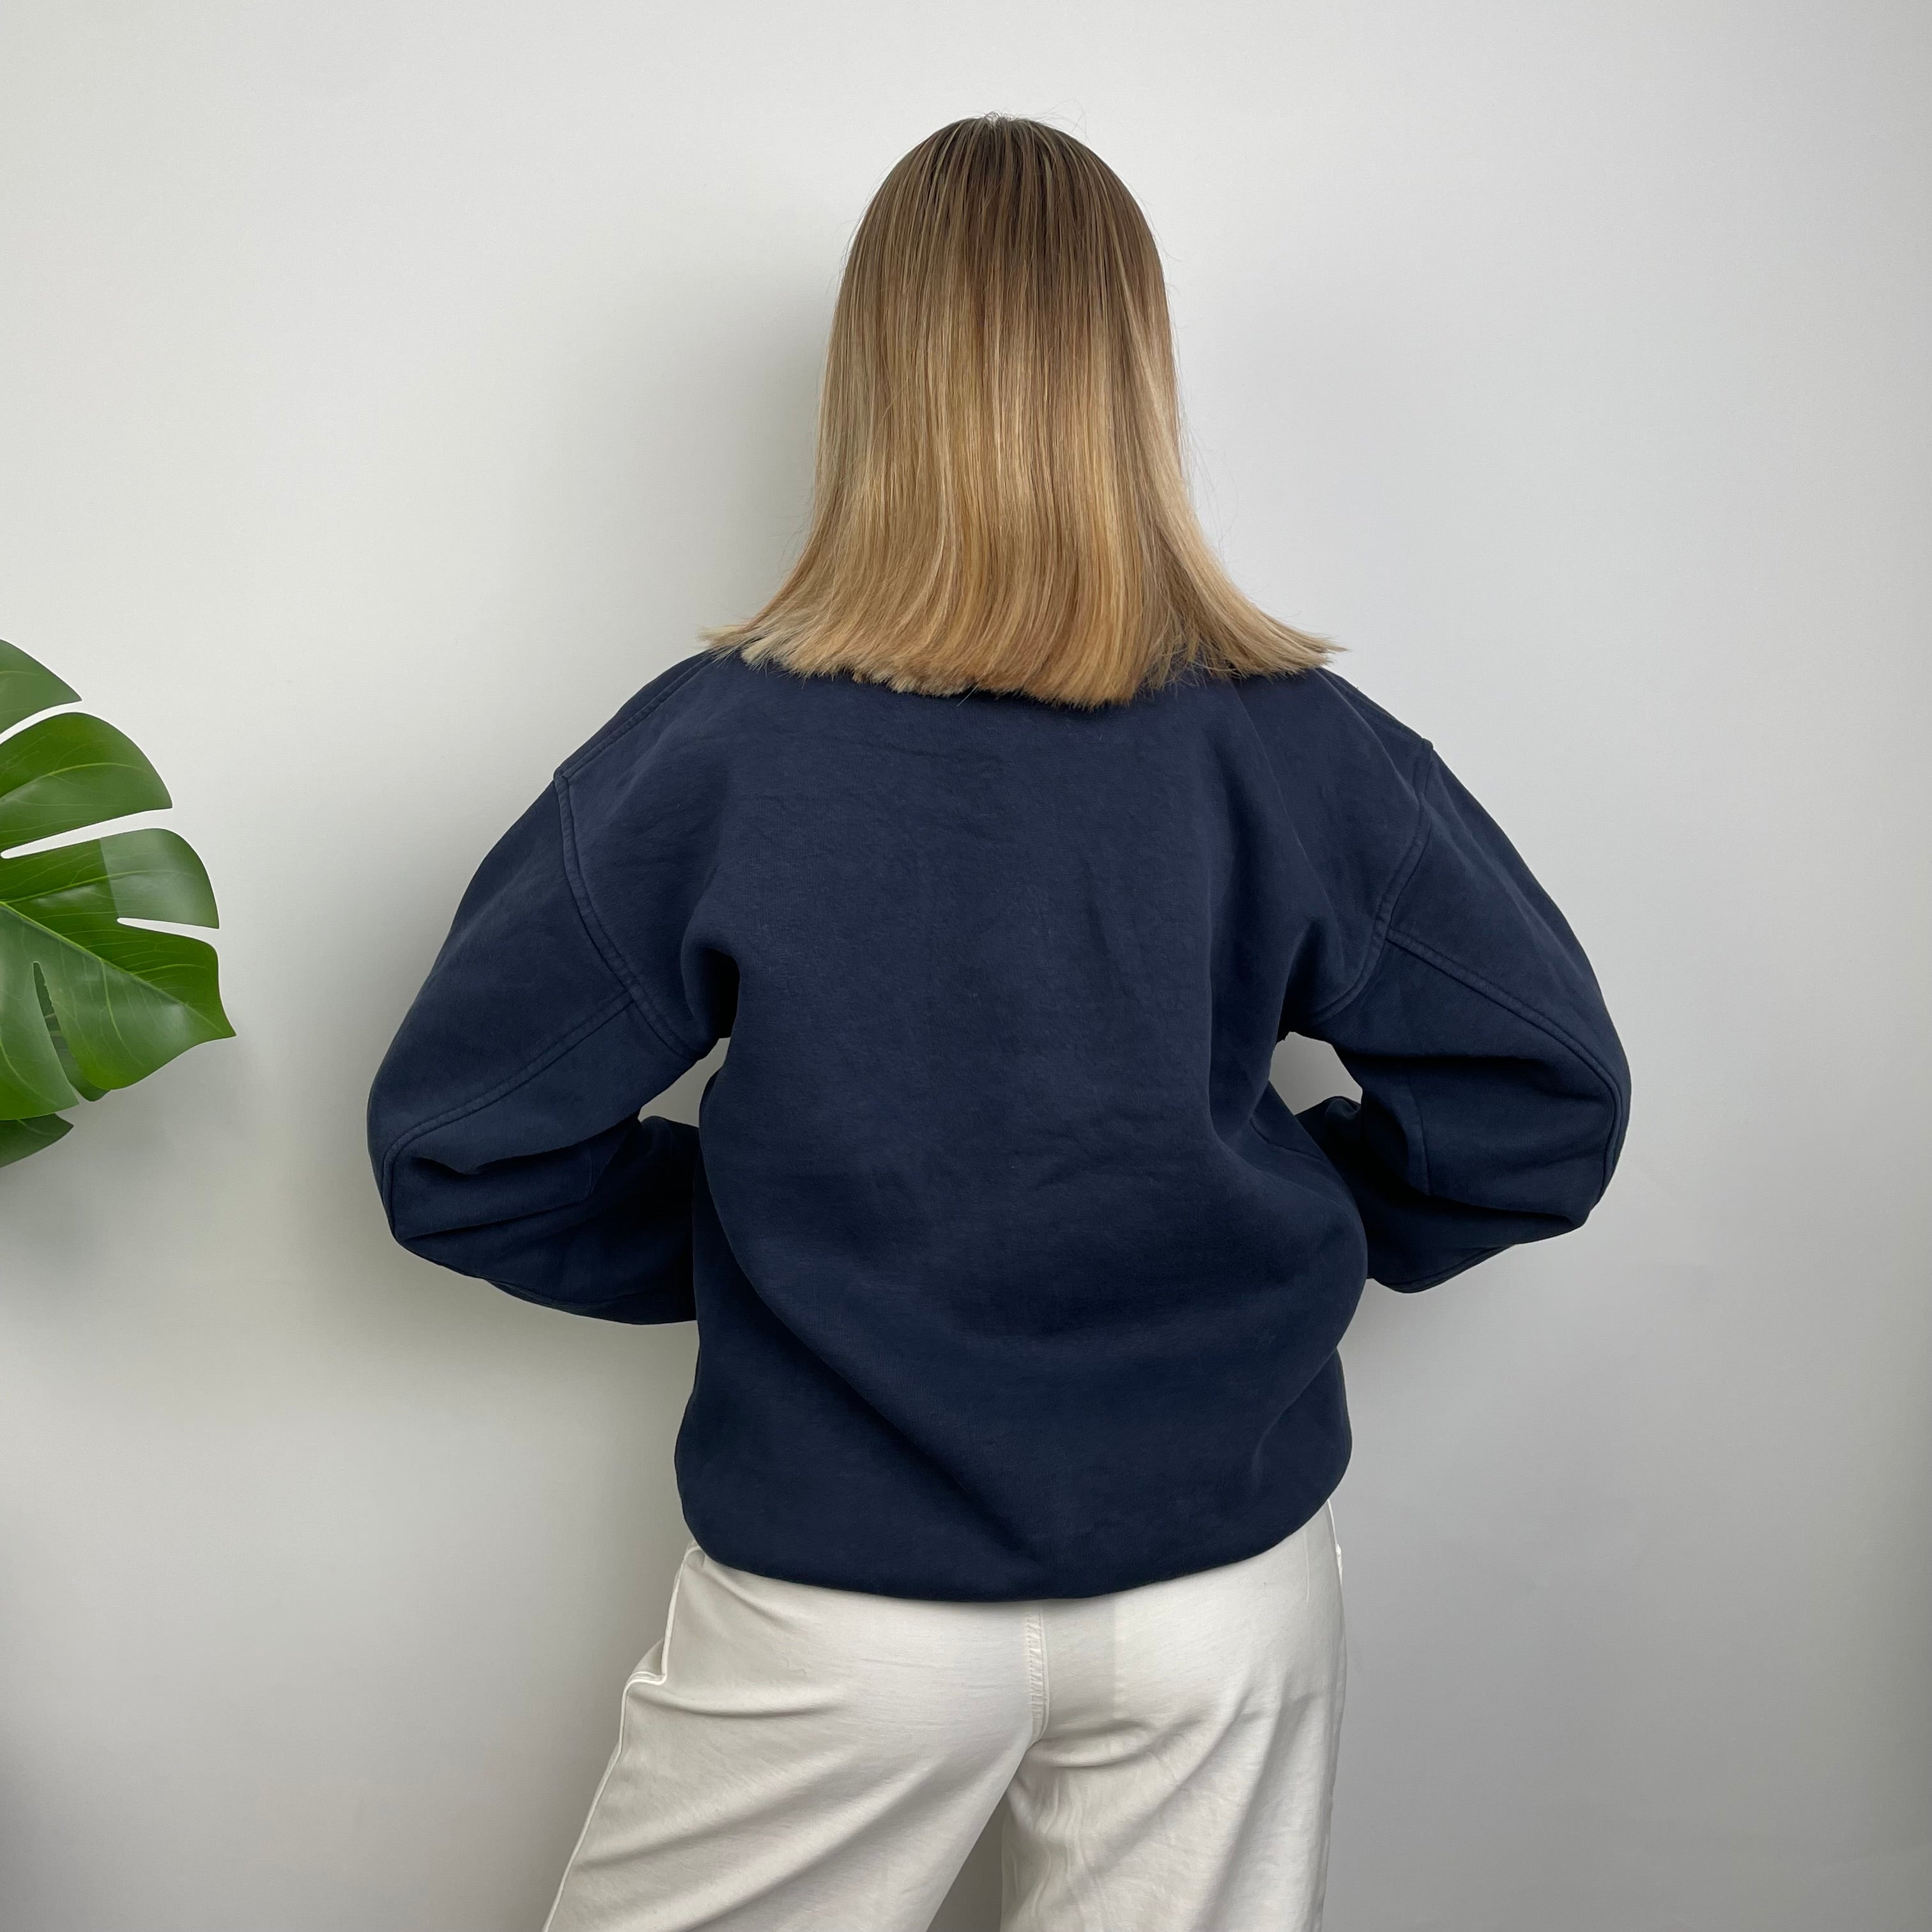
[[[1563,916],[1432,748],[1412,784],[1420,821],[1366,966],[1298,1022],[1362,1088],[1298,1119],[1354,1194],[1370,1275],[1405,1291],[1580,1227],[1629,1115]]]

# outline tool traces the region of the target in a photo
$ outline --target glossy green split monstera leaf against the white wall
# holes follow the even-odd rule
[[[0,730],[75,697],[0,643]],[[0,740],[0,852],[168,804],[139,748],[83,711]],[[129,918],[218,923],[185,838],[147,827],[0,858],[0,1167],[60,1140],[66,1109],[234,1032],[214,949]]]

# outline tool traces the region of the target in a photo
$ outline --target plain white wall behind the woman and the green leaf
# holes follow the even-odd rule
[[[1924,1932],[1928,43],[15,0],[0,636],[174,786],[240,1037],[0,1173],[0,1924],[541,1920],[694,1337],[394,1250],[363,1092],[551,765],[775,580],[844,236],[999,106],[1142,195],[1238,578],[1511,827],[1634,1065],[1582,1235],[1345,1350],[1331,1932]]]

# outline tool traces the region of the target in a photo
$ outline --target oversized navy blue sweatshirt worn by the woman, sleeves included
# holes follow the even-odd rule
[[[1360,1103],[1291,1113],[1289,1032]],[[639,1119],[726,1034],[699,1126]],[[1010,1600],[1298,1528],[1364,1277],[1577,1227],[1627,1092],[1557,908],[1329,672],[1074,711],[699,653],[483,862],[369,1146],[415,1254],[696,1318],[711,1555]]]

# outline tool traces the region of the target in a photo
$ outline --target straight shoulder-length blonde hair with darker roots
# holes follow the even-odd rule
[[[1072,135],[999,114],[929,135],[866,209],[804,549],[763,611],[705,638],[802,674],[1066,705],[1335,649],[1252,605],[1202,535],[1134,197]]]

